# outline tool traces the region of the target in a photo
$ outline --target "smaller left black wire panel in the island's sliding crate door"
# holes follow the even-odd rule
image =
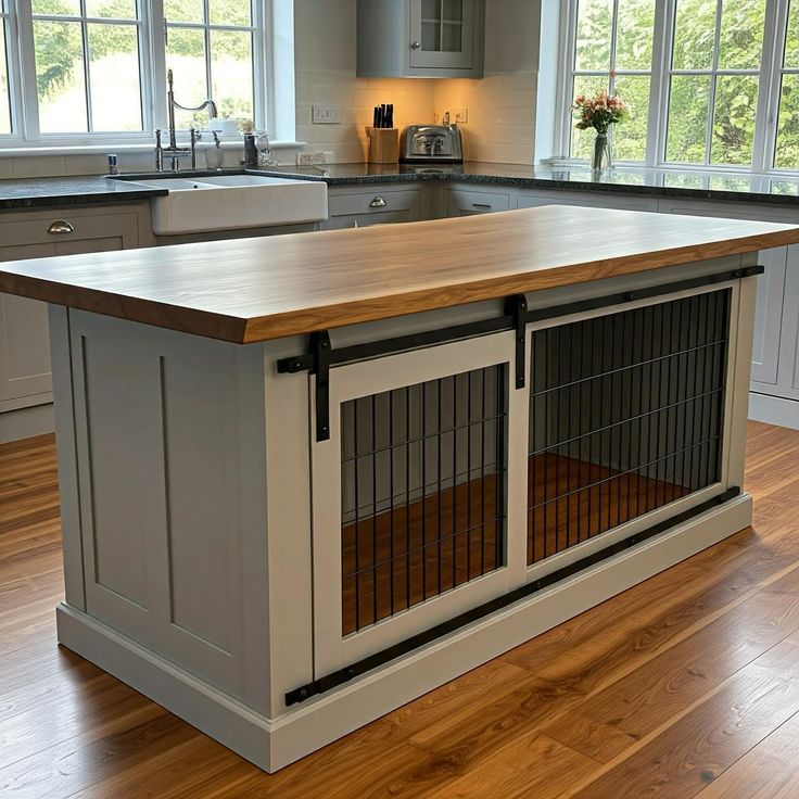
[[[341,405],[342,635],[505,565],[507,367]]]

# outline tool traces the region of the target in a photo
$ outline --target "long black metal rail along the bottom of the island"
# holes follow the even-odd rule
[[[471,608],[470,610],[467,610],[465,613],[461,613],[454,619],[449,619],[448,621],[445,621],[441,624],[436,624],[430,630],[426,630],[424,632],[406,638],[405,641],[400,642],[398,644],[395,644],[394,646],[391,646],[386,649],[383,649],[382,651],[370,655],[369,657],[364,658],[363,660],[359,660],[348,667],[345,667],[344,669],[339,669],[338,671],[326,674],[325,676],[319,677],[318,680],[314,680],[306,685],[295,688],[294,690],[290,690],[288,694],[286,694],[286,705],[297,705],[305,701],[306,699],[309,699],[310,697],[318,696],[319,694],[324,694],[340,685],[344,685],[351,680],[366,674],[372,669],[384,665],[385,663],[389,663],[390,661],[400,658],[403,655],[407,655],[415,649],[419,649],[420,647],[430,644],[437,638],[447,635],[448,633],[460,630],[468,624],[491,616],[491,613],[503,610],[504,608],[521,601],[522,599],[527,599],[537,592],[542,591],[543,588],[547,588],[555,583],[566,580],[573,574],[576,574],[578,572],[581,572],[592,566],[595,566],[596,563],[601,562],[603,560],[607,560],[608,558],[613,557],[614,555],[618,555],[633,546],[636,546],[645,541],[649,541],[650,538],[654,538],[655,536],[667,532],[673,527],[689,521],[690,519],[706,512],[707,510],[711,510],[712,508],[719,507],[720,505],[724,505],[725,503],[734,499],[739,494],[740,489],[738,486],[731,487],[723,494],[708,499],[701,505],[685,510],[682,513],[672,517],[671,519],[660,522],[659,524],[654,524],[648,530],[635,533],[624,541],[611,544],[604,549],[594,553],[593,555],[582,558],[581,560],[578,560],[574,563],[571,563],[562,569],[554,571],[551,574],[547,574],[546,576],[528,583],[520,588],[516,588],[515,591],[497,597],[496,599],[492,599],[491,601],[479,605],[475,608]]]

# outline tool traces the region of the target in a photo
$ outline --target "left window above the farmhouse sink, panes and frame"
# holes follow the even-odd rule
[[[272,135],[291,138],[293,69],[270,89],[286,73],[276,65],[293,64],[292,5],[0,0],[0,147],[149,140],[166,127],[167,69],[181,105],[212,98],[220,116],[258,127],[269,117]],[[207,111],[176,113],[178,128],[206,122]]]

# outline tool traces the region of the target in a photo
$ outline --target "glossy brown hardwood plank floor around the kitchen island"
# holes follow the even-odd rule
[[[796,799],[799,432],[753,529],[275,775],[55,644],[54,446],[0,446],[0,796]]]

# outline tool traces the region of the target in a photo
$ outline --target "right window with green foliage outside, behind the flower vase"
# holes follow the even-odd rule
[[[797,168],[799,0],[563,7],[562,152],[588,157],[593,131],[574,130],[569,107],[578,94],[605,89],[631,111],[612,128],[617,161]]]

